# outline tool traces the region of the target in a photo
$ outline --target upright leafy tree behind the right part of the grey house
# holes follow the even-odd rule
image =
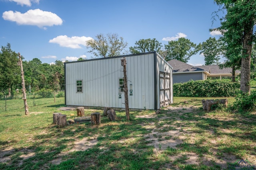
[[[220,39],[210,37],[199,45],[200,54],[204,55],[205,65],[220,64],[220,56],[223,54],[223,43]]]

